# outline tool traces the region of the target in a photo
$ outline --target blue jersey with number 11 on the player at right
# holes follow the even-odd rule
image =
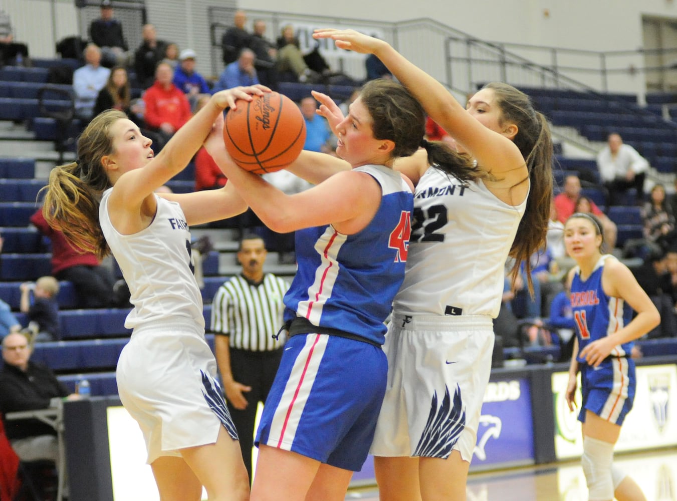
[[[581,280],[581,270],[576,267],[571,282],[571,310],[576,323],[579,353],[592,341],[613,334],[632,319],[630,305],[619,297],[607,296],[602,289],[602,272],[608,258],[615,259],[609,254],[600,257],[586,280]],[[629,356],[632,345],[632,342],[618,345],[611,351],[611,356]],[[580,357],[578,362],[586,363]]]

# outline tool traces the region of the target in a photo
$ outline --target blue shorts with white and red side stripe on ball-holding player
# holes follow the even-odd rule
[[[387,370],[385,353],[369,343],[292,336],[263,406],[256,444],[359,471],[374,439]]]

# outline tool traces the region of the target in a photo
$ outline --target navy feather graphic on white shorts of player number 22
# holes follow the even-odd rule
[[[458,385],[456,385],[456,391],[454,391],[453,406],[448,387],[445,387],[444,398],[439,408],[437,408],[437,392],[435,392],[428,422],[418,445],[416,445],[414,456],[448,458],[464,428],[465,411],[463,410],[461,390]]]

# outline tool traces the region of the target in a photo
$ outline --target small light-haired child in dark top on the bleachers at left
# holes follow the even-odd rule
[[[19,309],[28,317],[28,332],[32,343],[58,341],[61,339],[59,323],[59,303],[56,295],[59,282],[52,276],[38,278],[34,283],[20,284],[21,299]]]

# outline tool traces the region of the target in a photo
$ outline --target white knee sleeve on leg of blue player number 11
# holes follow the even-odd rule
[[[613,443],[584,437],[581,464],[588,484],[590,501],[613,500],[612,462]]]

